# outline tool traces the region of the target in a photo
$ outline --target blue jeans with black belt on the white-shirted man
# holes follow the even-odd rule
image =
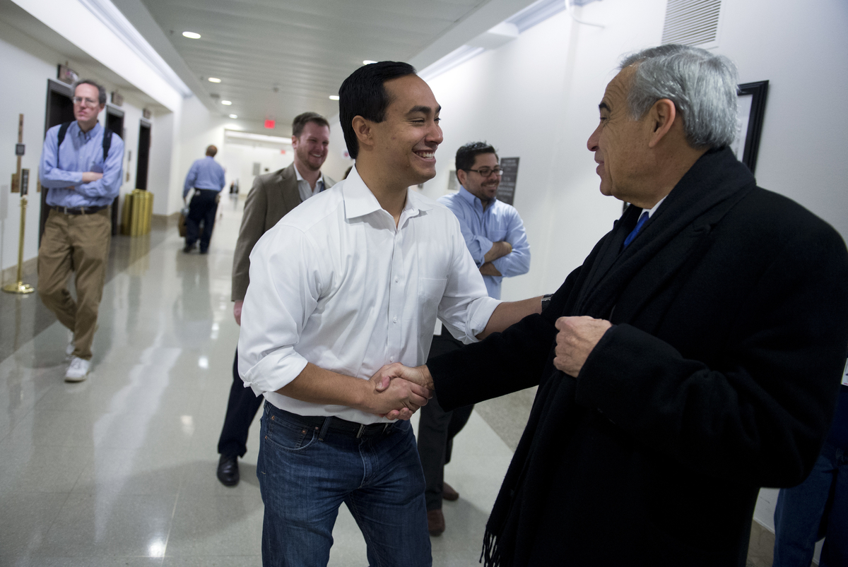
[[[429,567],[424,475],[408,421],[385,433],[337,433],[265,403],[256,475],[265,567],[324,566],[345,503],[372,567]]]

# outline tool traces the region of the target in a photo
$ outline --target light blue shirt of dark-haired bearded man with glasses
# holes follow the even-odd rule
[[[527,274],[530,270],[530,244],[518,211],[497,198],[484,211],[483,202],[461,186],[459,192],[438,197],[438,202],[460,220],[462,236],[477,268],[483,265],[483,257],[494,242],[505,240],[512,246],[511,253],[492,263],[501,275],[483,275],[488,296],[500,299],[500,282],[504,277]]]

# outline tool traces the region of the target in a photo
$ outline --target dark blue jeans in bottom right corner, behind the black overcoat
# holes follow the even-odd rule
[[[825,444],[806,481],[780,491],[774,529],[772,567],[809,567],[823,537],[819,567],[848,565],[848,454]]]

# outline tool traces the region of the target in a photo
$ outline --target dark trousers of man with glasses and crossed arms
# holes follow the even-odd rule
[[[432,337],[430,353],[427,359],[439,354],[449,353],[462,347],[449,331],[442,328],[442,334]],[[442,486],[444,484],[444,465],[450,462],[450,453],[454,447],[454,437],[462,431],[471,417],[473,405],[444,411],[433,395],[426,406],[419,409],[421,420],[418,422],[418,456],[424,470],[424,498],[427,510],[442,509]]]

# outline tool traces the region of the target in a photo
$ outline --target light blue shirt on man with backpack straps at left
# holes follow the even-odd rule
[[[118,197],[121,177],[124,175],[124,141],[112,132],[109,155],[103,161],[103,126],[99,123],[83,132],[76,120],[65,132],[58,161],[56,142],[59,128],[47,131],[42,149],[39,178],[42,187],[47,187],[47,204],[54,207],[105,207]],[[103,179],[82,182],[85,171],[102,173]],[[72,186],[72,188],[68,188]]]

